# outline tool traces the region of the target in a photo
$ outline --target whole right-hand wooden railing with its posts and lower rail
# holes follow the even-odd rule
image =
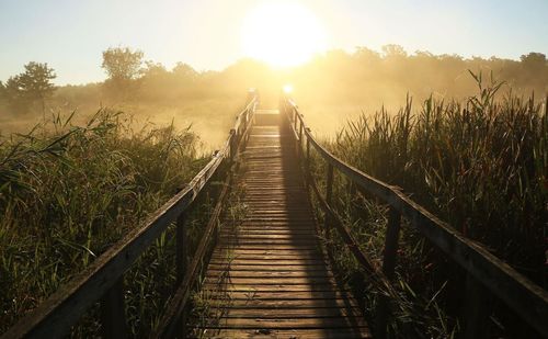
[[[293,127],[297,154],[304,163],[307,185],[313,192],[319,206],[326,214],[326,235],[329,236],[330,228],[334,226],[356,260],[364,269],[373,273],[374,279],[381,282],[388,295],[396,295],[391,281],[395,276],[401,217],[404,217],[412,227],[466,271],[465,307],[467,318],[463,329],[465,338],[482,337],[490,315],[488,300],[491,294],[504,302],[541,336],[548,338],[548,293],[545,290],[491,255],[484,247],[464,237],[413,202],[400,189],[384,183],[333,156],[316,140],[310,128],[306,126],[302,114],[299,113],[297,105],[290,99],[283,98],[281,100],[281,112],[287,115]],[[327,162],[324,194],[318,189],[310,171],[311,148],[317,151],[321,160]],[[389,205],[381,268],[377,268],[361,250],[350,229],[334,212],[332,204],[334,169],[366,194],[376,196]],[[388,317],[388,300],[386,297],[379,301],[376,314],[376,336],[385,337]]]

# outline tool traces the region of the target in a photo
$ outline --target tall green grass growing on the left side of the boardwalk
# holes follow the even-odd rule
[[[196,151],[198,138],[189,128],[149,125],[133,131],[128,115],[109,110],[87,124],[73,125],[72,117],[56,115],[27,134],[1,140],[0,332],[137,226],[204,165]],[[153,326],[151,313],[162,306],[158,295],[171,292],[174,265],[165,264],[174,260],[165,255],[173,251],[170,231],[126,274],[134,335]],[[156,292],[149,291],[152,284]],[[99,326],[83,323],[75,335]]]

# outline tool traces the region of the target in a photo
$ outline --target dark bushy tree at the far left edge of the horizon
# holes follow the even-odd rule
[[[46,100],[55,91],[52,80],[57,76],[47,64],[31,61],[24,67],[24,72],[8,79],[3,89],[4,95],[14,111],[28,110],[39,102],[42,113],[45,113]]]

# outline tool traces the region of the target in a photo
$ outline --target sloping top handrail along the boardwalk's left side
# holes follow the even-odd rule
[[[212,177],[218,172],[225,160],[231,160],[237,154],[235,148],[240,147],[243,136],[242,129],[248,129],[256,104],[258,97],[256,93],[253,93],[250,95],[243,111],[238,115],[235,128],[231,129],[224,147],[215,152],[212,160],[192,179],[185,189],[152,213],[139,227],[129,231],[102,253],[66,285],[41,303],[33,312],[20,319],[1,338],[62,337],[98,301],[103,300],[102,303],[112,305],[111,301],[117,298],[118,304],[119,300],[123,303],[123,298],[119,298],[118,294],[123,292],[121,283],[124,272],[173,221],[178,219],[189,208]],[[179,247],[180,245],[178,245]],[[109,297],[110,295],[113,295],[113,297]],[[119,308],[119,305],[116,307]],[[112,321],[112,319],[105,320]],[[118,335],[118,331],[116,331],[116,336]],[[105,334],[105,336],[114,336],[114,334]]]

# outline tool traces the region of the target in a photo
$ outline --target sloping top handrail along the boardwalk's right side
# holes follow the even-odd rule
[[[391,206],[391,214],[401,215],[415,227],[432,244],[443,250],[452,260],[457,262],[469,274],[469,279],[479,282],[486,290],[490,291],[499,300],[503,301],[511,309],[515,310],[526,323],[535,328],[539,334],[548,338],[548,292],[533,283],[524,275],[520,274],[507,263],[490,253],[480,244],[466,238],[459,231],[442,222],[424,207],[408,197],[399,188],[389,185],[378,179],[375,179],[361,170],[345,163],[323,146],[312,136],[310,128],[307,127],[302,114],[295,102],[290,99],[282,100],[281,110],[289,118],[289,125],[294,129],[294,135],[299,150],[298,155],[304,157],[301,147],[307,147],[306,161],[309,163],[310,147],[313,147],[319,156],[329,165],[339,170],[350,181],[362,190],[379,197]],[[302,134],[304,131],[304,134]],[[302,136],[304,135],[304,136]],[[305,142],[305,143],[304,143]],[[309,167],[305,167],[309,171]],[[311,177],[308,172],[307,177]],[[330,188],[328,188],[330,190]],[[317,195],[319,192],[316,192]],[[326,201],[321,201],[320,206],[326,211]],[[333,208],[327,205],[330,217],[333,217]],[[399,217],[392,222],[393,227],[390,234],[392,239],[398,238]],[[336,223],[335,223],[336,225]],[[336,227],[339,231],[344,233],[344,228]],[[343,238],[352,238],[352,235],[343,235]],[[388,250],[395,252],[397,244],[393,240],[388,241],[385,248],[385,263],[388,261],[388,270],[393,270],[395,258],[387,257]],[[356,247],[356,244],[353,244]],[[356,251],[353,250],[353,253]],[[358,258],[362,259],[362,258]],[[362,260],[358,260],[363,262]],[[391,268],[390,268],[391,265]],[[391,275],[391,272],[385,272]],[[477,323],[477,321],[476,321]],[[479,325],[481,326],[481,324]],[[469,332],[466,328],[465,330]],[[383,334],[380,334],[383,336]]]

